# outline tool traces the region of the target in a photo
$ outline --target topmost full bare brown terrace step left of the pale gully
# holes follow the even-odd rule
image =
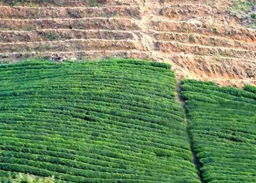
[[[82,19],[88,17],[129,17],[141,19],[138,6],[22,7],[0,6],[0,19]]]

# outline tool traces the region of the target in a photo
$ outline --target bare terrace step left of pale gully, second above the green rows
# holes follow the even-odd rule
[[[134,40],[101,40],[101,39],[72,39],[65,41],[51,41],[51,42],[20,42],[20,43],[0,43],[1,53],[10,52],[33,52],[33,51],[104,51],[106,49],[111,51],[118,50],[141,50],[145,51],[143,45]]]

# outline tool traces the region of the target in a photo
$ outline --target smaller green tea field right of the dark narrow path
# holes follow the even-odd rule
[[[256,88],[182,81],[204,182],[255,182]]]

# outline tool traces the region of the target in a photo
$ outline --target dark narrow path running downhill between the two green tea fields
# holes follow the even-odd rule
[[[185,100],[182,98],[180,92],[181,92],[181,88],[180,88],[180,81],[177,82],[177,100],[179,101],[180,105],[184,108],[184,111],[186,113],[185,119],[184,119],[184,123],[185,123],[185,129],[186,132],[188,134],[188,139],[189,139],[189,143],[190,143],[190,149],[191,149],[191,153],[192,153],[192,163],[195,164],[195,168],[196,168],[196,173],[200,179],[200,182],[205,183],[205,181],[203,180],[202,177],[202,172],[200,171],[200,168],[202,167],[202,165],[200,164],[198,158],[196,157],[196,152],[194,149],[194,140],[192,137],[191,132],[189,132],[189,127],[188,127],[188,116],[187,116],[187,111],[186,111],[186,106],[185,106]]]

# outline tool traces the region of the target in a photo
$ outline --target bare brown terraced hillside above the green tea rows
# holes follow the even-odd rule
[[[2,62],[148,58],[179,77],[256,84],[256,31],[229,16],[231,0],[1,2]]]

